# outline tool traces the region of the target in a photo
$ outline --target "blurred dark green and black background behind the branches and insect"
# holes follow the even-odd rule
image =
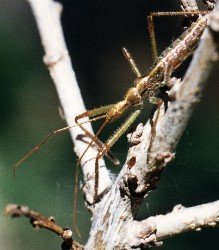
[[[149,12],[180,9],[175,0],[60,2],[64,7],[66,42],[88,109],[117,102],[132,83],[134,76],[122,56],[123,46],[132,52],[142,72],[149,69]],[[201,3],[200,7],[204,8]],[[182,33],[182,20],[156,19],[160,52]],[[51,130],[65,126],[56,91],[42,62],[43,54],[27,1],[0,0],[0,249],[60,249],[61,244],[55,234],[35,231],[25,218],[5,218],[3,209],[8,203],[26,204],[46,216],[53,215],[63,227],[72,227],[76,157],[68,133],[50,141],[17,171],[15,179],[12,177],[12,166],[24,152]],[[188,63],[177,71],[177,76],[183,76]],[[166,213],[179,203],[194,206],[218,199],[217,79],[215,69],[177,147],[176,159],[164,172],[159,188],[143,204],[140,219]],[[150,110],[151,105],[146,103],[139,122],[148,119]],[[126,136],[114,147],[122,162],[127,147]],[[90,214],[83,206],[82,196],[78,215],[82,242],[86,242]],[[166,240],[162,248],[218,249],[218,233],[218,229],[186,233]]]

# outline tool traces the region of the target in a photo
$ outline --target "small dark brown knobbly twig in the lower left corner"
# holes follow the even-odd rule
[[[40,213],[30,210],[26,206],[16,204],[7,205],[4,214],[12,218],[25,216],[30,219],[30,223],[35,229],[45,228],[61,236],[64,240],[62,243],[63,250],[83,249],[83,246],[72,239],[72,231],[68,228],[64,229],[60,227],[55,223],[55,219],[53,217],[46,218]]]

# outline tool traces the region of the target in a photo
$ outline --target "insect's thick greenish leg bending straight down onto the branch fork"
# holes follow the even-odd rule
[[[140,115],[140,110],[136,110],[132,113],[127,120],[118,128],[115,133],[107,140],[105,146],[101,149],[101,151],[97,154],[95,160],[95,186],[94,186],[94,202],[98,201],[98,181],[99,181],[99,159],[105,155],[109,149],[113,146],[113,144],[126,132],[126,130],[132,125],[132,123],[137,119]]]

